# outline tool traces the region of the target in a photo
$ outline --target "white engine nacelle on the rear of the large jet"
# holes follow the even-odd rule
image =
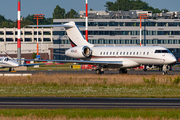
[[[73,58],[88,58],[92,54],[92,50],[88,46],[78,46],[66,50],[66,56]]]

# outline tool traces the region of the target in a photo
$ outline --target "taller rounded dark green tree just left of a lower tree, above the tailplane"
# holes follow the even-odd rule
[[[65,9],[57,5],[56,8],[54,9],[53,19],[63,19],[64,16],[65,16]]]

